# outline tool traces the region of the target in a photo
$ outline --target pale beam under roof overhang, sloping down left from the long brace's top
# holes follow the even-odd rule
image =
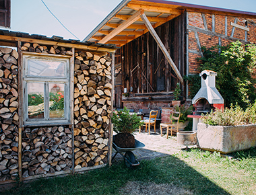
[[[123,22],[118,28],[116,28],[115,30],[113,30],[113,32],[110,32],[110,34],[108,34],[107,36],[105,36],[102,40],[100,40],[98,43],[106,43],[108,42],[108,40],[110,40],[111,38],[113,38],[114,36],[116,36],[117,34],[119,34],[119,32],[121,32],[122,30],[125,30],[125,28],[127,28],[127,26],[130,26],[131,24],[133,24],[133,22],[135,22],[139,16],[141,14],[143,14],[144,11],[143,10],[139,10],[136,13],[134,13],[133,15],[131,15],[131,17],[129,17],[129,19],[127,19],[127,21]]]

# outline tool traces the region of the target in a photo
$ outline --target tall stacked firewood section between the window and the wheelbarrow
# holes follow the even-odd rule
[[[75,52],[75,169],[107,161],[111,113],[110,58]]]

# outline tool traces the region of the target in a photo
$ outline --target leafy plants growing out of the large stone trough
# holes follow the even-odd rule
[[[224,110],[217,109],[202,118],[202,122],[210,125],[236,126],[244,124],[256,124],[256,102],[243,110],[241,106],[232,106]]]

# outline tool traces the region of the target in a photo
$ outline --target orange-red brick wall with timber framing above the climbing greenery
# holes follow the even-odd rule
[[[205,23],[203,17],[205,17]],[[234,28],[231,22],[243,27],[247,25],[249,32],[241,28]],[[201,46],[207,48],[218,44],[225,46],[236,40],[247,44],[255,43],[256,40],[256,19],[189,12],[187,23],[189,75],[199,73],[200,62],[197,61],[197,58],[201,56]]]

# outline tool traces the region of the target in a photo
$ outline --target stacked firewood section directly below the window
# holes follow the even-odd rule
[[[22,178],[71,171],[72,132],[68,126],[25,128],[22,132]]]

